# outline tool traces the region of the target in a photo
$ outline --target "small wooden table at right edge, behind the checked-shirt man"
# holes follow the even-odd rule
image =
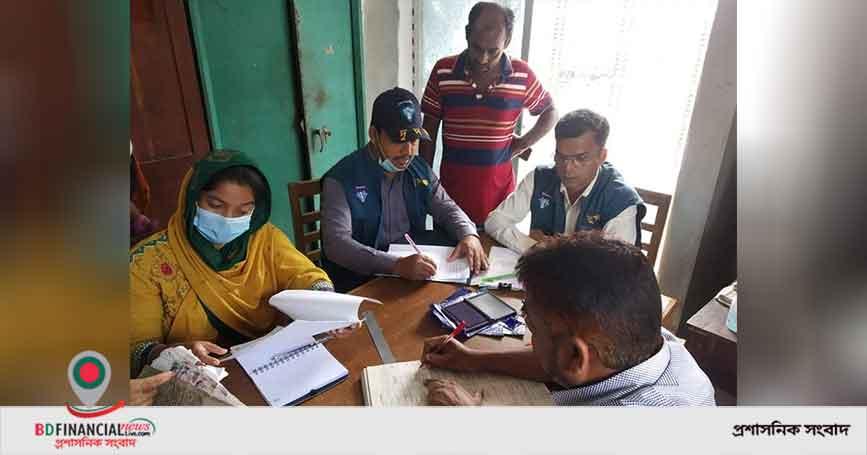
[[[686,348],[714,386],[737,397],[738,335],[726,327],[728,307],[708,302],[686,323]]]

